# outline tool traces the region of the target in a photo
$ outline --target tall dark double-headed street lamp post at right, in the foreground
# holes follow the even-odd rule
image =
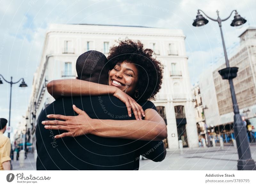
[[[202,10],[198,10],[196,19],[194,20],[194,22],[192,24],[195,27],[203,26],[209,22],[207,19],[205,19],[202,16],[200,11],[203,12]],[[233,78],[236,77],[238,68],[229,66],[226,46],[225,46],[223,33],[222,33],[222,29],[221,29],[221,22],[229,19],[233,12],[235,12],[235,16],[234,16],[234,19],[232,20],[232,23],[230,24],[230,26],[235,27],[235,26],[243,25],[246,22],[246,20],[244,18],[242,18],[237,13],[236,10],[233,10],[226,19],[220,19],[218,10],[217,10],[217,15],[218,15],[217,19],[212,19],[209,16],[207,16],[204,12],[203,13],[207,18],[211,19],[212,21],[217,21],[219,23],[219,27],[220,27],[220,34],[221,34],[227,68],[221,69],[218,72],[222,76],[222,79],[227,79],[229,81],[229,85],[230,85],[233,109],[234,109],[234,114],[235,114],[234,115],[234,133],[235,133],[235,138],[236,138],[236,143],[237,143],[237,151],[238,151],[238,157],[239,157],[239,160],[237,162],[237,168],[238,168],[238,170],[256,170],[256,165],[255,165],[254,160],[252,159],[249,143],[247,140],[246,129],[243,125],[243,121],[242,121],[241,115],[239,113],[239,108],[238,108],[237,101],[236,101],[235,89],[234,89],[233,80],[232,80]]]

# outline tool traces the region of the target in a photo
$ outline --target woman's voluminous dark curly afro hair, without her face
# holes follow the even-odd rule
[[[131,39],[119,41],[118,46],[112,46],[109,50],[108,63],[110,68],[118,62],[128,61],[137,66],[139,81],[136,89],[139,97],[132,96],[135,100],[155,100],[156,93],[161,89],[164,66],[153,57],[154,51],[144,49],[143,44]]]

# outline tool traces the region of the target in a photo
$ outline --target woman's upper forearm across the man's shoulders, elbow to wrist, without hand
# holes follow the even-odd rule
[[[52,80],[47,84],[48,92],[55,99],[63,96],[113,95],[116,87],[77,79]]]

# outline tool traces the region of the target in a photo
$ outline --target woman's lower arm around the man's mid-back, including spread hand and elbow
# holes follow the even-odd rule
[[[50,114],[48,118],[57,120],[43,121],[47,129],[66,130],[68,132],[55,136],[82,136],[93,134],[108,138],[125,138],[139,140],[163,140],[167,138],[167,128],[162,117],[154,110],[145,111],[145,120],[98,120],[91,119],[86,112],[73,105],[78,116]],[[60,121],[64,120],[64,121]]]

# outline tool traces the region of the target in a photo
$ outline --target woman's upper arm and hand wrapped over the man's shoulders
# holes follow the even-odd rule
[[[132,116],[132,111],[134,112],[136,120],[141,120],[142,117],[145,116],[142,107],[132,97],[114,86],[77,79],[65,79],[50,81],[47,84],[47,90],[55,99],[62,96],[112,95],[125,103],[130,117]]]

